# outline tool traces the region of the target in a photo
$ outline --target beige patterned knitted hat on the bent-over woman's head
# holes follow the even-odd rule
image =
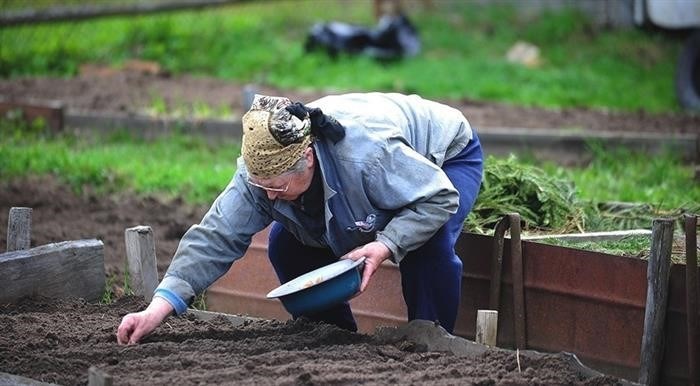
[[[284,97],[255,95],[243,115],[241,154],[248,173],[271,178],[288,171],[301,159],[311,144],[311,121],[303,121],[285,107],[292,102]]]

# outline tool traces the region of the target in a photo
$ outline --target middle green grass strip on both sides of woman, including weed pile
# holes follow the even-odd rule
[[[86,186],[104,193],[126,190],[182,197],[192,204],[208,204],[216,197],[240,154],[233,140],[213,143],[178,134],[153,140],[124,133],[49,135],[40,123],[28,126],[16,119],[0,120],[0,137],[2,180],[51,174],[76,191]],[[489,225],[489,218],[504,211],[522,213],[530,226],[558,230],[648,228],[653,215],[700,212],[700,186],[692,167],[670,153],[649,157],[594,147],[593,161],[585,168],[531,165],[514,157],[489,157],[486,164],[474,212]],[[611,201],[640,204],[623,210],[604,207]]]

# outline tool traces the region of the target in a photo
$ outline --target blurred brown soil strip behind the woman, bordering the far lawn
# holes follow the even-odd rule
[[[309,102],[329,90],[294,91],[257,87],[260,93],[283,95]],[[178,76],[171,77],[139,71],[91,71],[75,78],[26,78],[0,80],[0,97],[6,99],[60,100],[69,109],[122,113],[142,113],[158,98],[170,109],[182,109],[196,103],[211,107],[228,106],[240,117],[243,86],[223,80]],[[535,129],[577,129],[654,133],[700,133],[700,115],[610,112],[582,108],[539,109],[515,107],[470,100],[444,100],[461,109],[474,127]]]

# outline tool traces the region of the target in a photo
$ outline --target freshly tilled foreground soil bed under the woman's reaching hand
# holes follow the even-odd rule
[[[0,372],[62,385],[86,384],[96,366],[115,385],[615,385],[585,378],[561,356],[475,357],[427,352],[408,341],[382,343],[334,326],[296,321],[170,318],[134,346],[116,343],[121,317],[144,307],[25,300],[0,306]],[[0,381],[2,379],[0,378]]]

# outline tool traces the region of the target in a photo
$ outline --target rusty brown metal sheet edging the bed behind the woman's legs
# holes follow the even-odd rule
[[[246,256],[207,291],[210,310],[287,319],[277,300],[279,285],[267,259],[267,231],[254,237]],[[457,253],[464,262],[455,335],[474,339],[476,313],[489,306],[493,237],[464,233]],[[645,261],[604,253],[522,243],[527,348],[566,351],[603,373],[636,381],[646,303]],[[498,345],[515,345],[510,240],[505,241]],[[671,268],[663,384],[687,380],[685,267]],[[406,321],[398,268],[382,265],[370,288],[351,301],[360,331]]]

